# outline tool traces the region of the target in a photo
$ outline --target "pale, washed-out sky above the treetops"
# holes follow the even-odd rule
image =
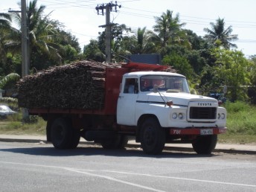
[[[21,0],[0,0],[0,13],[8,10],[20,10]],[[37,0],[37,5],[45,5],[45,15],[65,25],[65,31],[77,37],[80,47],[97,39],[103,31],[100,25],[106,24],[106,15],[97,15],[97,4],[106,4],[106,0]],[[112,1],[115,4],[115,1]],[[27,5],[29,1],[27,0]],[[256,1],[255,0],[121,0],[117,1],[117,12],[112,11],[110,21],[125,24],[136,31],[146,27],[153,29],[155,17],[167,10],[173,15],[179,14],[180,22],[198,36],[205,36],[204,28],[211,28],[210,22],[224,19],[225,28],[231,25],[232,34],[238,35],[234,43],[238,51],[246,57],[256,55]]]

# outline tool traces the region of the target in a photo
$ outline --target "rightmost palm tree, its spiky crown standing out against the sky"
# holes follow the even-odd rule
[[[224,48],[237,48],[237,45],[231,43],[231,41],[237,40],[237,35],[232,35],[231,25],[225,29],[224,19],[217,19],[216,23],[210,23],[211,29],[205,28],[204,31],[208,33],[205,35],[205,39],[208,39],[214,45],[219,47],[222,45]]]

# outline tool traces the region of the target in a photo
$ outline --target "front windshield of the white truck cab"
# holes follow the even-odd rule
[[[167,75],[145,75],[141,77],[141,92],[153,91],[154,86],[158,86],[160,92],[189,93],[188,83],[185,77]]]

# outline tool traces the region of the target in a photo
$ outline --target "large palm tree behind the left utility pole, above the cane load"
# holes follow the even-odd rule
[[[61,60],[60,50],[61,46],[58,43],[58,32],[54,28],[54,22],[51,22],[48,19],[49,13],[47,16],[43,16],[45,6],[41,5],[39,8],[36,6],[37,0],[30,2],[27,7],[27,19],[28,19],[28,45],[29,45],[29,55],[33,56],[34,54],[45,54],[54,60]],[[13,13],[14,21],[19,28],[21,28],[21,14]],[[21,48],[21,30],[13,32],[12,39],[16,39],[10,45],[14,50]],[[16,43],[14,43],[16,42]],[[33,60],[30,58],[30,61]],[[33,62],[31,67],[33,67]]]

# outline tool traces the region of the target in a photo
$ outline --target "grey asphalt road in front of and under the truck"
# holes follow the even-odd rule
[[[0,191],[256,191],[256,156],[0,142]]]

